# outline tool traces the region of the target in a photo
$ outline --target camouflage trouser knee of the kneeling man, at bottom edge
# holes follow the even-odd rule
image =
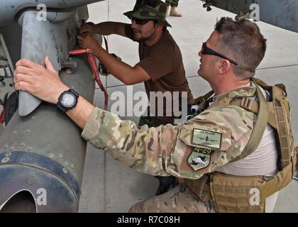
[[[130,213],[215,213],[214,204],[204,204],[188,187],[179,184],[169,192],[141,201]]]

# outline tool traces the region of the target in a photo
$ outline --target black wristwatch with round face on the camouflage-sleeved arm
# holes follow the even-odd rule
[[[69,109],[74,108],[77,105],[77,99],[79,98],[79,94],[75,92],[73,89],[69,89],[68,91],[62,92],[58,98],[57,108],[60,109],[63,113],[68,111]]]

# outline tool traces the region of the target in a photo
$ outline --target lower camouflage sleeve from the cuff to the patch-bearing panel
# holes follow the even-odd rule
[[[138,128],[133,121],[121,121],[115,114],[95,108],[82,137],[134,170],[167,176],[165,165],[169,163],[179,128],[170,124]]]

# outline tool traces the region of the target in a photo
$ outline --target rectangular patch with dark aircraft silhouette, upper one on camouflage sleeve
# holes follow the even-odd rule
[[[194,128],[192,144],[219,150],[221,149],[221,133]]]

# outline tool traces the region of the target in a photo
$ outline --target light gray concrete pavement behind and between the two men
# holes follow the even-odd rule
[[[89,21],[121,21],[129,23],[122,13],[133,8],[134,0],[110,0],[89,5]],[[172,28],[170,33],[180,45],[187,72],[189,85],[194,96],[209,91],[209,86],[197,76],[199,57],[197,53],[211,31],[214,29],[216,18],[235,15],[213,9],[206,12],[202,1],[181,1],[179,11],[182,18],[168,18]],[[298,33],[276,28],[265,23],[258,23],[261,32],[267,38],[267,53],[258,67],[257,77],[270,83],[282,82],[286,85],[292,108],[294,136],[298,141]],[[119,55],[129,65],[138,62],[138,44],[126,38],[111,35],[109,50]],[[106,77],[102,78],[105,81]],[[126,87],[110,76],[107,77],[109,94],[114,91],[126,92]],[[144,90],[143,84],[133,86],[133,91]],[[113,101],[109,101],[110,105]],[[94,104],[104,106],[104,96],[97,89]],[[138,123],[138,117],[123,118]],[[80,199],[80,212],[126,212],[138,201],[150,198],[155,194],[158,181],[149,175],[130,170],[101,150],[88,145],[85,170]],[[280,192],[275,212],[298,211],[298,182],[292,182]]]

